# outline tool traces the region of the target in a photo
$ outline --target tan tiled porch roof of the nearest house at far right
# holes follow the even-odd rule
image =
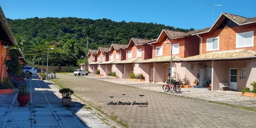
[[[242,58],[242,57],[251,57],[256,56],[256,52],[249,51],[246,49],[240,50],[232,50],[232,51],[217,51],[217,52],[210,52],[202,55],[197,56],[190,56],[186,58],[182,58],[180,60],[207,60],[207,59],[229,59],[229,58]]]

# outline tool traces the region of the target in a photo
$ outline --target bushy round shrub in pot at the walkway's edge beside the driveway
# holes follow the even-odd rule
[[[71,95],[74,94],[74,91],[69,88],[63,88],[59,89],[59,93],[62,96],[63,106],[70,106],[72,100]]]

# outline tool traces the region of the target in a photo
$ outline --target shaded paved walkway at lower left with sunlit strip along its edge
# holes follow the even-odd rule
[[[78,102],[63,107],[55,85],[33,78],[26,80],[31,94],[27,107],[19,107],[17,89],[0,94],[0,128],[110,128]]]

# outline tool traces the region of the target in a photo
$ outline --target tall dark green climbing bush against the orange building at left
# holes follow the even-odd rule
[[[11,76],[17,76],[22,74],[22,67],[19,61],[18,54],[19,54],[18,50],[11,49],[10,50],[11,59],[7,60],[6,62],[6,67],[8,67],[7,72]]]

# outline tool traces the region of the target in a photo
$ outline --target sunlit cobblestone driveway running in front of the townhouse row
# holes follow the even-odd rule
[[[256,127],[256,112],[96,79],[67,74],[57,76],[59,79],[54,82],[72,88],[81,99],[109,115],[117,115],[118,119],[128,122],[129,127]],[[149,104],[148,107],[107,105],[111,101]]]

